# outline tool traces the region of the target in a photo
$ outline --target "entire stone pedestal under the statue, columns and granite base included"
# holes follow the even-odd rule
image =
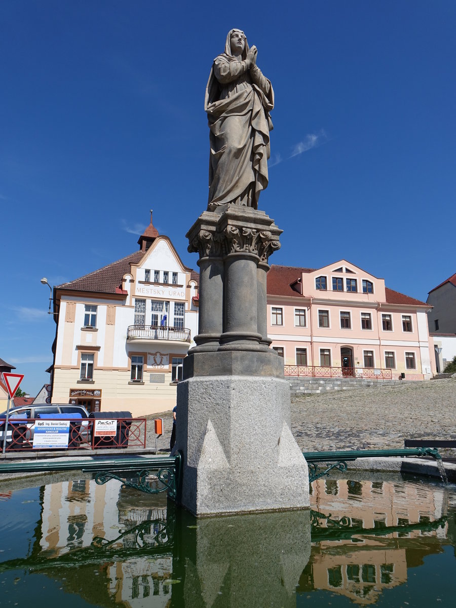
[[[281,232],[266,213],[231,204],[187,234],[199,252],[199,332],[178,384],[174,451],[179,500],[198,516],[309,506],[283,359],[267,336],[266,272]]]

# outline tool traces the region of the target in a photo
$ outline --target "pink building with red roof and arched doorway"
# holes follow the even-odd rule
[[[268,335],[286,375],[430,379],[429,309],[346,260],[268,272]]]

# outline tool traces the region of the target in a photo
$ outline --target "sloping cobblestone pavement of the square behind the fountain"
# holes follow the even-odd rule
[[[169,450],[171,412],[150,417],[147,447],[155,447],[159,417],[165,433],[158,447]],[[291,430],[304,452],[400,448],[405,438],[456,440],[456,378],[295,397]],[[454,450],[447,454],[455,457]]]

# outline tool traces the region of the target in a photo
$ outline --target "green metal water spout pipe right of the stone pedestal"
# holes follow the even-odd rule
[[[309,483],[314,482],[320,477],[329,475],[330,471],[337,469],[347,471],[347,462],[357,458],[379,458],[379,457],[430,457],[441,460],[442,457],[438,450],[432,447],[402,448],[393,450],[347,450],[336,452],[303,452],[303,456],[309,467]],[[326,463],[323,469],[318,468],[318,463]],[[331,464],[329,464],[331,463]]]

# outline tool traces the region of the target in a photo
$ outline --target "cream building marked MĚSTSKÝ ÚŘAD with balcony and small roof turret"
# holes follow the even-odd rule
[[[198,328],[198,272],[152,224],[139,251],[54,288],[52,402],[170,410]]]

